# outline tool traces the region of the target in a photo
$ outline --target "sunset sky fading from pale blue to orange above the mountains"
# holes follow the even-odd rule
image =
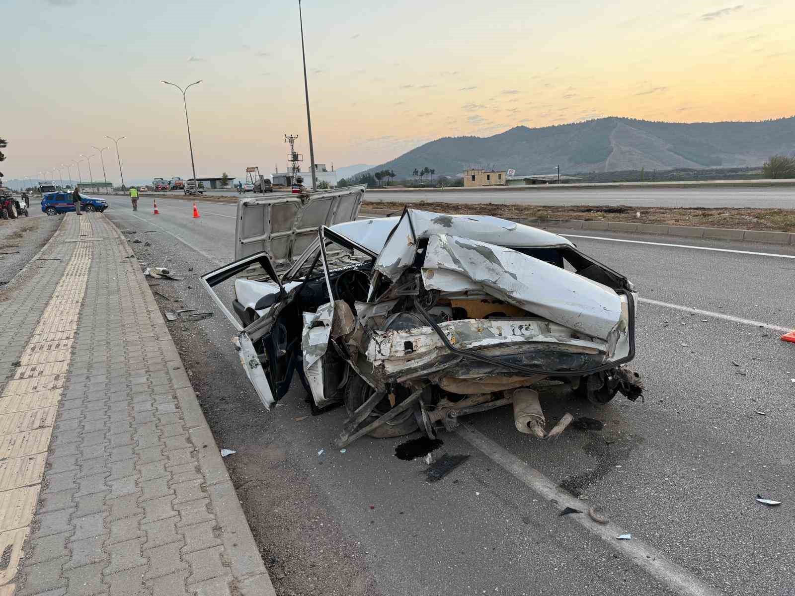
[[[791,0],[302,7],[315,157],[336,167],[520,124],[795,114]],[[204,81],[188,91],[198,176],[283,171],[285,133],[308,165],[297,2],[5,0],[2,15],[6,179],[94,153],[106,134],[127,137],[128,184],[189,177],[182,98],[161,79]]]

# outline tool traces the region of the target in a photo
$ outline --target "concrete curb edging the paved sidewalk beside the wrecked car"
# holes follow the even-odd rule
[[[97,214],[105,217],[104,214]],[[110,221],[110,220],[109,220]],[[122,241],[122,245],[132,254],[130,245],[124,234],[113,225],[116,234]],[[136,261],[137,262],[137,261]],[[134,267],[135,277],[142,287],[145,287],[145,300],[153,311],[160,315],[163,328],[167,329],[165,319],[157,306],[149,284],[140,267]],[[275,596],[270,575],[262,561],[257,544],[254,542],[254,535],[251,533],[246,516],[243,513],[240,501],[235,493],[227,466],[221,459],[220,451],[215,438],[212,435],[207,420],[204,418],[199,400],[193,391],[188,373],[185,372],[184,363],[180,358],[179,351],[176,349],[173,339],[169,333],[166,339],[161,339],[163,350],[169,354],[169,362],[179,362],[177,370],[169,366],[169,377],[174,385],[176,401],[180,404],[185,426],[188,428],[190,441],[196,451],[201,474],[204,477],[204,488],[210,497],[211,508],[218,516],[218,521],[222,525],[223,548],[228,555],[229,569],[235,579],[236,592],[241,596]],[[219,588],[218,594],[228,594]],[[225,589],[224,589],[225,590]]]

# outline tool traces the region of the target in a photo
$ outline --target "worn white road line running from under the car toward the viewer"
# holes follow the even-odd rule
[[[483,433],[466,424],[462,424],[456,432],[467,443],[482,451],[483,455],[502,466],[503,469],[512,474],[514,478],[517,478],[519,482],[528,486],[529,489],[534,490],[547,500],[551,501],[554,499],[557,501],[560,509],[572,507],[582,510],[584,508],[583,501],[560,490],[555,482],[546,478],[544,474],[529,466],[522,459],[510,453],[510,451],[506,451],[506,449],[494,443]],[[654,579],[664,583],[673,592],[687,594],[687,596],[718,596],[718,590],[694,577],[687,569],[674,563],[660,551],[655,550],[642,540],[638,540],[634,536],[632,540],[617,540],[621,534],[629,533],[625,529],[620,528],[619,525],[613,522],[597,524],[587,514],[570,515],[568,519],[580,524],[588,532],[603,540],[607,546],[625,555],[628,560],[641,567]]]

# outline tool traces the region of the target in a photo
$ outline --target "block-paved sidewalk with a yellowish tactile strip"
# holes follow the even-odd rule
[[[0,596],[272,595],[131,254],[68,214],[0,288]]]

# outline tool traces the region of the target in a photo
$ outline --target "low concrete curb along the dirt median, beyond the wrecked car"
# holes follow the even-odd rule
[[[363,215],[390,215],[395,211],[390,209],[366,209]],[[399,214],[398,214],[399,215]],[[762,230],[738,230],[735,228],[721,227],[696,227],[696,226],[666,226],[656,223],[631,223],[631,222],[600,222],[584,219],[542,219],[542,218],[516,218],[511,221],[524,223],[527,226],[557,226],[569,230],[594,230],[613,232],[634,232],[636,234],[661,234],[667,236],[681,236],[683,238],[708,238],[711,240],[744,240],[747,242],[765,242],[767,244],[781,244],[795,246],[795,234],[790,232],[766,232]]]

